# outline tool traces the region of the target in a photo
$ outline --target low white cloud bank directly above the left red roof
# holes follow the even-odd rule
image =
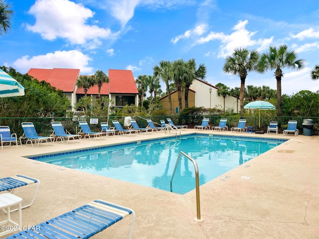
[[[55,51],[38,56],[22,56],[13,62],[13,66],[20,72],[27,72],[31,68],[52,69],[52,68],[70,68],[80,69],[81,74],[91,74],[94,69],[89,67],[89,61],[92,59],[77,50]]]

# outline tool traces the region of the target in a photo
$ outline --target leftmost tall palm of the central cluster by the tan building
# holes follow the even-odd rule
[[[156,65],[155,67],[153,67],[153,72],[154,72],[153,75],[159,76],[166,85],[166,92],[167,92],[168,102],[170,106],[169,113],[171,114],[172,106],[171,106],[171,96],[170,96],[170,90],[169,90],[169,82],[171,82],[171,78],[169,74],[170,67],[171,67],[170,61],[160,61],[159,65]]]

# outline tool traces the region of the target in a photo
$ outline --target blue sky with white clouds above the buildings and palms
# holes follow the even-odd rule
[[[152,75],[160,60],[194,58],[212,85],[240,87],[222,71],[235,48],[261,53],[286,44],[305,60],[283,69],[282,94],[319,90],[319,4],[314,0],[7,0],[12,30],[0,37],[0,65],[30,68],[130,69]],[[274,73],[249,73],[246,86],[277,89]],[[164,87],[162,88],[165,91]]]

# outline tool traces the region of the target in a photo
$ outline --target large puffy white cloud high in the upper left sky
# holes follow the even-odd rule
[[[89,25],[87,20],[94,12],[69,0],[36,0],[28,11],[35,16],[35,24],[26,28],[39,33],[43,39],[64,38],[71,44],[82,44],[88,49],[101,45],[99,39],[116,38],[119,32],[112,33],[109,28]]]

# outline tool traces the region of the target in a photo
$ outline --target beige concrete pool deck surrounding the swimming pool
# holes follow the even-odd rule
[[[37,148],[30,144],[18,148],[6,146],[0,149],[0,178],[23,174],[40,180],[34,203],[22,210],[23,226],[44,222],[103,199],[135,210],[133,239],[319,238],[319,136],[181,131],[182,134],[192,132],[289,140],[202,185],[202,223],[194,221],[195,190],[179,195],[23,157],[173,136],[173,133],[116,135],[68,144],[59,141],[53,146],[44,143]],[[34,185],[21,187],[15,194],[27,202],[32,199],[34,189]],[[11,215],[14,220],[17,212]],[[0,211],[0,221],[4,218]],[[127,217],[93,238],[127,238],[131,219]]]

